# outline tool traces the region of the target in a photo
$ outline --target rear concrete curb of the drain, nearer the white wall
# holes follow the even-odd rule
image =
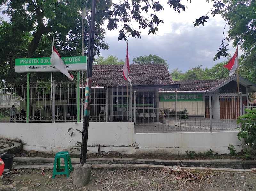
[[[61,160],[63,162],[63,160]],[[14,157],[14,165],[53,165],[54,158],[42,157]],[[80,163],[80,158],[72,158],[72,164]],[[182,166],[182,167],[205,167],[205,168],[231,168],[249,169],[256,167],[256,160],[160,160],[160,159],[134,159],[134,158],[88,158],[88,164],[152,164],[163,166]]]

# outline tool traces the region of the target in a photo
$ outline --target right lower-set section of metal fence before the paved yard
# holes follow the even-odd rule
[[[152,95],[152,94],[151,94]],[[242,94],[166,93],[154,94],[159,106],[138,109],[136,133],[175,131],[234,130],[237,116],[242,115]],[[140,99],[148,99],[141,94]],[[149,102],[150,103],[150,102]],[[158,114],[159,115],[156,115]]]

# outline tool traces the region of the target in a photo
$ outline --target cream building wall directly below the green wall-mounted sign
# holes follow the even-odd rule
[[[175,109],[175,102],[159,102],[160,109]],[[188,115],[204,115],[205,118],[205,102],[177,102],[176,111],[187,109]]]

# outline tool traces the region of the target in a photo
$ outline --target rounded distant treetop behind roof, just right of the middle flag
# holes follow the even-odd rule
[[[155,54],[152,55],[144,55],[144,56],[139,56],[136,57],[132,60],[132,62],[136,64],[165,64],[166,67],[168,68],[169,66],[167,65],[167,62],[165,59],[160,58],[159,56],[156,56]]]

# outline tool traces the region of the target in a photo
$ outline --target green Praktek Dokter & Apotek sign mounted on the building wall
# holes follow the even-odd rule
[[[159,94],[160,102],[175,102],[175,93],[161,93]],[[203,94],[201,93],[177,93],[177,101],[203,101]]]

